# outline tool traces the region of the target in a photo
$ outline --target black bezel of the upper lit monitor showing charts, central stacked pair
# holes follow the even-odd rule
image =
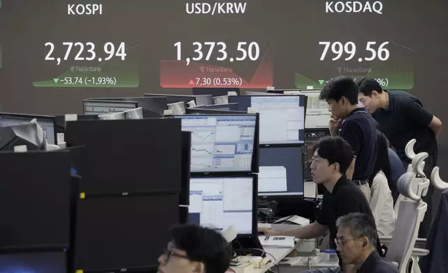
[[[198,177],[219,177],[219,176],[227,176],[227,175],[237,175],[237,176],[246,176],[252,173],[258,173],[259,164],[258,164],[258,147],[259,147],[259,114],[257,113],[244,113],[244,114],[188,114],[188,115],[174,115],[173,118],[179,118],[182,120],[182,117],[185,116],[205,116],[205,117],[213,117],[213,116],[255,116],[255,135],[253,142],[253,151],[252,151],[252,163],[250,166],[250,170],[248,171],[190,171],[192,176]]]

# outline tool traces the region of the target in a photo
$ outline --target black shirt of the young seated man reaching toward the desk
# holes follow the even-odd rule
[[[330,231],[330,247],[336,249],[335,237],[337,235],[336,220],[337,218],[349,214],[351,212],[362,212],[371,215],[369,203],[362,194],[360,188],[342,176],[336,182],[333,192],[326,191],[323,194],[323,202],[321,212],[316,221],[324,226],[328,226]],[[378,240],[378,253],[382,253],[381,244]],[[339,253],[338,253],[339,256]],[[342,258],[339,257],[339,265],[342,267]]]

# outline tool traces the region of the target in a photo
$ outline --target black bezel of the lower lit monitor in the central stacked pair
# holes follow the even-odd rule
[[[246,176],[241,176],[239,173],[229,173],[229,175],[221,176],[195,176],[191,174],[190,179],[193,178],[252,178],[253,188],[252,188],[252,233],[242,234],[238,233],[237,238],[250,238],[258,237],[258,176],[255,173],[249,173]]]

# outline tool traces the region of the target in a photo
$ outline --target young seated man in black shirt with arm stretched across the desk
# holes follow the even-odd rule
[[[330,230],[330,247],[336,249],[337,218],[350,212],[364,212],[372,216],[369,203],[360,188],[346,178],[353,152],[347,141],[340,137],[323,137],[313,148],[311,164],[312,178],[315,183],[323,184],[327,191],[323,195],[323,204],[317,220],[307,226],[291,231],[271,231],[260,229],[268,236],[294,236],[301,239],[312,239],[323,236],[327,228]],[[373,216],[372,216],[373,217]],[[377,241],[378,253],[382,253],[381,245]],[[344,266],[344,273],[354,273],[354,265],[346,265],[339,257],[339,265]],[[342,269],[324,268],[310,272],[342,272]]]

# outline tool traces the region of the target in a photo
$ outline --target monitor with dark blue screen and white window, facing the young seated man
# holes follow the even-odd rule
[[[303,196],[303,147],[259,148],[258,196]]]

